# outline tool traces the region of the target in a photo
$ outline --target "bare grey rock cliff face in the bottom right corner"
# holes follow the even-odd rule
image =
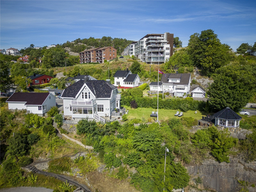
[[[187,166],[191,183],[200,177],[200,189],[210,189],[218,192],[239,191],[241,185],[237,180],[248,181],[248,190],[256,191],[252,184],[256,184],[256,161],[245,163],[237,158],[230,157],[230,163],[218,163],[214,160],[205,160],[200,165]],[[193,189],[195,191],[195,189]],[[189,189],[188,189],[189,191]]]

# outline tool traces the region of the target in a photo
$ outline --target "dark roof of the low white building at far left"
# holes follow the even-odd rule
[[[15,92],[6,102],[26,102],[26,105],[42,105],[51,93],[18,93]]]

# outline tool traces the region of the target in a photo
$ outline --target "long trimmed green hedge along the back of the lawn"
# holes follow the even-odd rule
[[[130,106],[132,97],[122,97],[121,104],[124,106]],[[142,97],[136,98],[136,102],[139,108],[157,108],[157,97]],[[199,110],[204,111],[205,102],[199,100],[188,99],[161,99],[159,98],[159,109],[174,109],[181,111]]]

